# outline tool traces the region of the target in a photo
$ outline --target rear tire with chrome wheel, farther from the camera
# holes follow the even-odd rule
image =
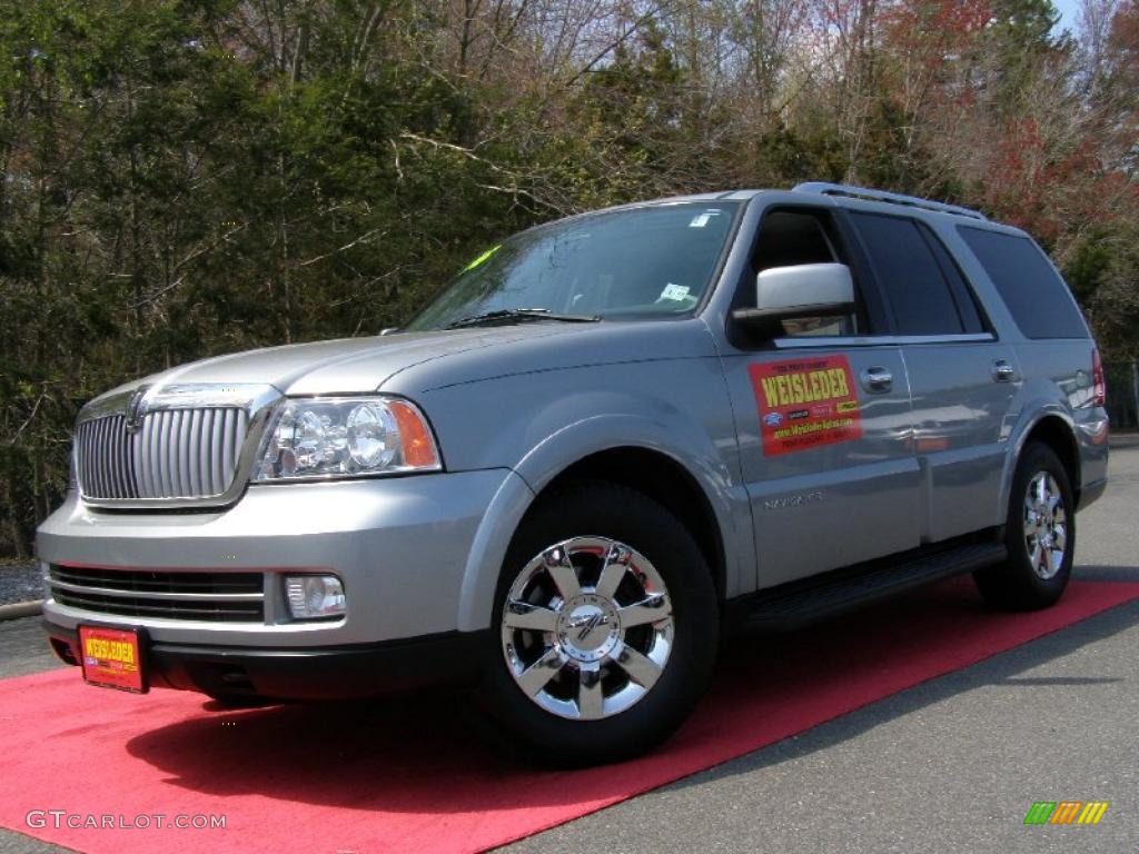
[[[1072,575],[1075,501],[1051,447],[1032,443],[1017,461],[1005,520],[1008,559],[973,574],[985,601],[1005,610],[1054,605]]]

